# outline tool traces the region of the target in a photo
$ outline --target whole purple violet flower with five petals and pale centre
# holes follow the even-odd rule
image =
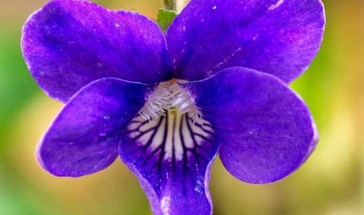
[[[236,178],[269,183],[315,148],[287,83],[317,53],[324,22],[320,0],[191,0],[163,35],[136,12],[52,0],[21,39],[40,88],[65,103],[36,157],[78,177],[120,156],[154,214],[211,214],[217,152]]]

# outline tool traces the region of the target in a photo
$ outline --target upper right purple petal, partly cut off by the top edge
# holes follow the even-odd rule
[[[191,0],[166,40],[175,78],[201,80],[244,66],[288,83],[316,55],[324,23],[320,0]]]

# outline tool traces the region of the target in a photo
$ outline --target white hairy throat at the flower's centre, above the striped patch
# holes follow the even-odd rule
[[[139,114],[145,120],[150,121],[150,119],[158,118],[160,115],[164,116],[166,112],[173,113],[175,111],[178,111],[179,114],[187,113],[189,117],[193,118],[193,123],[198,117],[199,121],[202,122],[201,113],[193,105],[188,94],[178,85],[177,79],[173,78],[159,83],[158,88],[148,98]]]

